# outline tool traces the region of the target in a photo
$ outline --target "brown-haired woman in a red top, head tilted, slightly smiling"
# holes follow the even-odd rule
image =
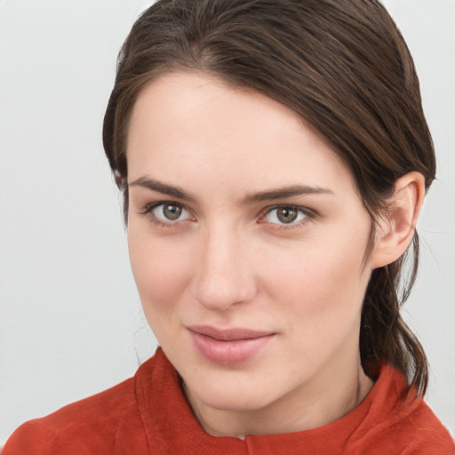
[[[158,2],[103,137],[160,348],[6,455],[455,451],[399,315],[435,155],[380,4]]]

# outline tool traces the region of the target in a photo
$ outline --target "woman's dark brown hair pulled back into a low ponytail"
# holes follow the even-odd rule
[[[119,54],[103,142],[128,212],[127,140],[141,90],[175,71],[252,88],[293,109],[329,140],[371,216],[387,213],[395,181],[412,171],[435,179],[435,152],[408,47],[376,0],[161,0],[143,12]],[[373,270],[360,327],[363,370],[389,363],[418,394],[427,358],[400,307],[417,275],[419,240]],[[411,259],[402,279],[406,256]],[[405,282],[405,283],[403,283]]]

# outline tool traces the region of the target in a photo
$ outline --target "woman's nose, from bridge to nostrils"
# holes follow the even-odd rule
[[[212,229],[200,247],[193,295],[205,308],[226,311],[256,294],[254,270],[249,265],[246,239],[234,229]]]

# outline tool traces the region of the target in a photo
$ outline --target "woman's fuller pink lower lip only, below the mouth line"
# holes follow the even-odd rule
[[[233,365],[250,360],[274,337],[274,334],[270,334],[252,339],[221,341],[197,331],[189,333],[199,354],[209,362],[220,365]]]

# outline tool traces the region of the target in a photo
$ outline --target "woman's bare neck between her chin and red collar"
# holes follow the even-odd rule
[[[215,436],[275,435],[323,427],[342,418],[361,403],[373,385],[360,359],[350,367],[331,363],[307,384],[267,406],[248,411],[220,410],[204,405],[186,389],[196,419]]]

